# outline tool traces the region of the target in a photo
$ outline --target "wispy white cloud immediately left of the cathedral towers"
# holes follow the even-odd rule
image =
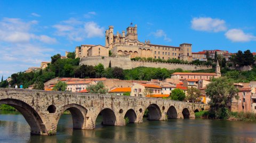
[[[78,21],[74,18],[61,21],[59,24],[55,24],[53,28],[56,29],[56,35],[66,37],[70,41],[82,41],[85,38],[104,36],[104,28],[97,23]]]

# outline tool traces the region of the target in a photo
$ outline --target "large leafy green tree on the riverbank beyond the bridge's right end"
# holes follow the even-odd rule
[[[231,100],[238,99],[238,89],[225,77],[214,79],[206,86],[206,96],[211,99],[210,113],[217,119],[227,119]]]

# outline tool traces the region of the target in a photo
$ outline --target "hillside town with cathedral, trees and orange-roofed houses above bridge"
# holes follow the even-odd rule
[[[233,78],[234,73],[229,72],[234,71],[229,70],[236,66],[253,68],[253,63],[234,62],[237,53],[219,49],[193,52],[192,44],[188,43],[179,46],[151,44],[149,40],[142,43],[138,40],[137,28],[131,23],[126,31],[114,34],[114,26],[109,26],[105,46],[77,46],[74,52],[66,52],[65,56],[52,56],[52,61],[42,62],[41,67],[13,74],[6,83],[23,84],[28,89],[56,90],[54,87],[62,82],[65,88],[57,90],[71,92],[90,92],[90,87],[101,83],[107,94],[156,98],[169,98],[173,90],[180,90],[188,97],[188,90],[193,88],[199,94],[184,100],[208,104],[210,98],[205,89],[213,79],[223,75]],[[255,58],[256,53],[249,51],[250,54]],[[221,74],[221,70],[225,73]],[[19,77],[27,76],[22,74],[33,74],[33,78],[20,81]],[[254,76],[251,74],[248,77]],[[244,79],[234,84],[240,98],[233,100],[231,111],[255,112],[256,82]],[[28,82],[22,83],[25,81]]]

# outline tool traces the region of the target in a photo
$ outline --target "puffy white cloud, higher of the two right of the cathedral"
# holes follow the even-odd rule
[[[226,22],[221,19],[193,18],[191,28],[197,31],[219,32],[226,31]]]

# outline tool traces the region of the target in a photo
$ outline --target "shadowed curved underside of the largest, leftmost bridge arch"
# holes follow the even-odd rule
[[[17,109],[29,124],[31,134],[47,134],[41,116],[27,103],[18,99],[6,98],[0,100],[1,104],[10,105]]]

